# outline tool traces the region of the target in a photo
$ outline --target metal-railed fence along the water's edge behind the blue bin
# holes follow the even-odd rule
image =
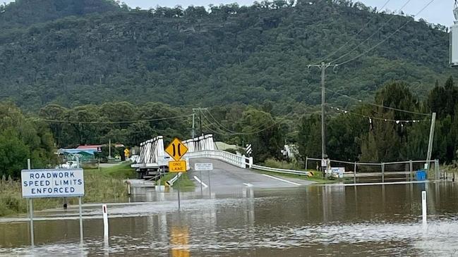
[[[359,180],[364,181],[413,181],[417,170],[426,170],[425,165],[429,163],[427,179],[433,175],[434,180],[440,180],[439,161],[399,161],[391,163],[358,163],[348,161],[330,160],[332,168],[344,168],[344,178],[353,178],[356,184]],[[321,159],[306,158],[306,169],[312,168],[319,170],[321,167]],[[431,174],[433,171],[433,174]]]

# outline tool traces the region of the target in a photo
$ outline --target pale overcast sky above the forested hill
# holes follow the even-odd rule
[[[4,2],[5,0],[1,1]],[[12,0],[6,0],[6,2],[11,2]],[[176,5],[183,6],[205,6],[208,7],[209,4],[219,5],[219,4],[230,4],[237,2],[239,5],[251,5],[254,0],[121,0],[126,2],[128,6],[131,7],[140,7],[140,8],[150,8],[159,6],[169,6],[174,7]],[[387,0],[360,0],[367,6],[377,6],[378,9],[382,7]],[[407,0],[406,0],[407,1]],[[391,0],[387,6],[390,11],[397,11],[401,6],[403,6],[406,1],[402,0]],[[415,14],[426,6],[430,0],[414,0],[403,9],[404,13]],[[356,2],[356,1],[355,1]],[[433,4],[423,11],[420,15],[421,18],[428,20],[429,23],[440,23],[442,25],[450,26],[453,23],[453,0],[435,0]]]

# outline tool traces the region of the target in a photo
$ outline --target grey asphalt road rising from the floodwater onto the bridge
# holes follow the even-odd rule
[[[191,171],[189,177],[194,176],[208,184],[208,172],[200,172],[194,170],[194,163],[213,163],[213,170],[210,172],[210,187],[216,191],[226,191],[240,187],[255,187],[255,188],[279,188],[279,187],[299,187],[303,185],[313,184],[308,180],[295,179],[290,177],[280,177],[276,175],[265,175],[252,170],[238,168],[234,165],[224,163],[214,159],[195,158],[190,160]],[[200,182],[195,180],[197,188],[200,187]]]

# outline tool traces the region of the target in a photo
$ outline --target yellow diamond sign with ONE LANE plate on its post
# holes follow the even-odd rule
[[[187,163],[186,161],[181,161],[181,158],[188,152],[188,147],[180,139],[174,138],[165,149],[165,152],[169,153],[169,156],[175,160],[169,161],[169,173],[186,173]],[[180,176],[176,180],[178,182],[178,209],[181,208],[179,180]]]

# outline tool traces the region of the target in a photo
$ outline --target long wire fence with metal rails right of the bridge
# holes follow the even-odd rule
[[[329,162],[329,163],[328,163]],[[440,180],[439,160],[362,163],[306,158],[306,170],[322,170],[327,177],[358,182]]]

